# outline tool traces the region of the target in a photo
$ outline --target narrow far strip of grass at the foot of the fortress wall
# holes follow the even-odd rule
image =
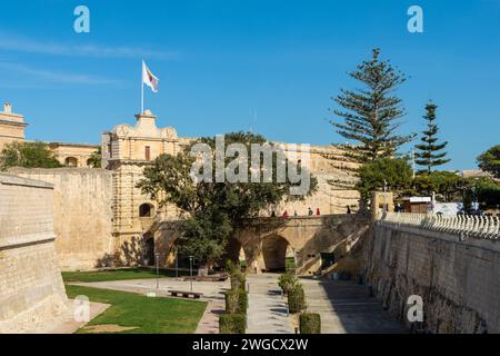
[[[193,271],[196,274],[196,271]],[[160,277],[176,277],[176,271],[171,269],[160,269]],[[189,276],[189,271],[179,270],[179,276]],[[149,268],[121,268],[92,271],[63,271],[64,281],[106,281],[156,278],[157,271]]]

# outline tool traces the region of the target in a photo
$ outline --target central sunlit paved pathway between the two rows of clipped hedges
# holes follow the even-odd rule
[[[247,334],[291,334],[286,299],[276,274],[248,275],[249,308]]]

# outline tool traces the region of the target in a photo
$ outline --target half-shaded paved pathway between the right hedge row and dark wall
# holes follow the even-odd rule
[[[308,310],[321,315],[322,334],[400,334],[407,328],[381,303],[369,296],[368,287],[344,280],[301,279]]]

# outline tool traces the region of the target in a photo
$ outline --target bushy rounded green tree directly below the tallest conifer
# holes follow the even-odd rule
[[[380,158],[361,166],[356,189],[363,199],[369,199],[372,191],[383,188],[403,192],[411,187],[412,175],[407,158]]]

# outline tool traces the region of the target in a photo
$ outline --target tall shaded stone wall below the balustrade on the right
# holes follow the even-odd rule
[[[378,221],[364,246],[367,283],[384,306],[413,329],[500,333],[500,241],[494,235],[446,231],[431,226],[436,219],[429,217],[397,220]],[[408,322],[411,295],[423,299],[423,326]]]

